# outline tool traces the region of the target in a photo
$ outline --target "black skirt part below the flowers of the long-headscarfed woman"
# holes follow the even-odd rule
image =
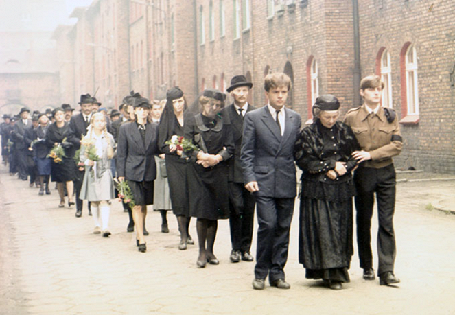
[[[180,156],[166,154],[166,173],[172,212],[189,217],[187,162]]]

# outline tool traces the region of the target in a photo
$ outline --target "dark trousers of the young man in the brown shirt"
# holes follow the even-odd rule
[[[396,246],[393,231],[395,213],[395,168],[390,164],[382,168],[362,167],[354,173],[357,189],[355,210],[357,212],[357,244],[360,267],[373,268],[371,253],[371,217],[373,216],[374,194],[377,200],[377,255],[379,266],[377,274],[392,271],[395,263]]]

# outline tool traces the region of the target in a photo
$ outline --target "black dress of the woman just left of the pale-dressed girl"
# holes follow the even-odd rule
[[[63,139],[68,139],[69,135],[69,124],[66,121],[61,128],[58,128],[54,122],[47,128],[45,141],[52,148],[54,143],[62,143]],[[68,147],[63,149],[66,156],[62,159],[62,162],[55,163],[54,160],[51,162],[51,181],[53,182],[65,183],[74,180],[76,172],[74,154],[76,150],[72,143],[65,143],[67,143]]]

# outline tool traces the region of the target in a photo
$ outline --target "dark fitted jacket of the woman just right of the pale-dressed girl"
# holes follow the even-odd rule
[[[121,125],[117,143],[117,176],[136,182],[156,178],[154,154],[159,154],[158,125],[145,125],[145,147],[135,122]]]

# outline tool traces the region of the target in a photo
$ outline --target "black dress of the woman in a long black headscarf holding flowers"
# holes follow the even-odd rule
[[[175,215],[189,217],[187,161],[178,156],[176,151],[171,153],[169,145],[165,143],[173,135],[184,135],[183,127],[178,123],[178,119],[175,115],[169,115],[167,119],[161,117],[158,142],[161,152],[165,153],[166,156],[167,183],[169,183],[172,212]]]

